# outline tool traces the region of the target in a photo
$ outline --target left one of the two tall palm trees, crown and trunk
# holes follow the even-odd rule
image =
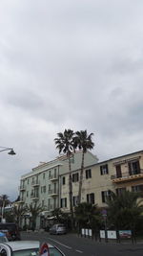
[[[73,224],[73,207],[72,207],[72,166],[71,166],[71,155],[74,151],[73,144],[73,130],[65,129],[64,132],[57,133],[57,138],[54,139],[56,149],[59,153],[64,152],[67,154],[69,160],[69,198],[70,198],[70,211],[72,214],[72,224]]]

